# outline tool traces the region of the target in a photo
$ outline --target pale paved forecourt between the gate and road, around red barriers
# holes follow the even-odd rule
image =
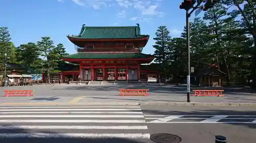
[[[150,96],[118,96],[119,89],[149,89]],[[195,89],[195,88],[194,88]],[[197,88],[198,89],[198,88]],[[204,89],[204,88],[200,88]],[[208,88],[209,89],[209,88]],[[223,88],[222,88],[223,89]],[[33,97],[3,97],[4,90],[34,90]],[[191,89],[193,90],[193,89]],[[254,103],[256,93],[249,89],[224,89],[225,97],[193,97],[194,103]],[[176,85],[33,85],[1,87],[1,103],[185,103],[186,87]]]

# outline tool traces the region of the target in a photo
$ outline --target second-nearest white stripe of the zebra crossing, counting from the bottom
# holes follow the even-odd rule
[[[0,129],[146,130],[147,126],[0,126]]]

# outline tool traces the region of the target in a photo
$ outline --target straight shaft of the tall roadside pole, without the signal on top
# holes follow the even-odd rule
[[[187,45],[187,102],[190,102],[190,48],[189,48],[189,23],[188,23],[188,10],[186,10],[186,45]]]

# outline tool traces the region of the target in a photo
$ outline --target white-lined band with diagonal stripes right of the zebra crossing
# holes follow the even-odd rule
[[[146,123],[256,124],[256,115],[144,115]]]

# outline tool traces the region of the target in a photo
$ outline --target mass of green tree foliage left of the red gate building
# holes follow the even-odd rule
[[[0,27],[1,74],[3,74],[6,53],[6,62],[19,64],[23,73],[47,73],[46,76],[50,80],[50,72],[59,72],[59,68],[64,64],[61,58],[68,54],[63,44],[59,43],[55,46],[50,37],[42,37],[37,43],[29,42],[18,47],[15,47],[10,40],[8,27]]]

